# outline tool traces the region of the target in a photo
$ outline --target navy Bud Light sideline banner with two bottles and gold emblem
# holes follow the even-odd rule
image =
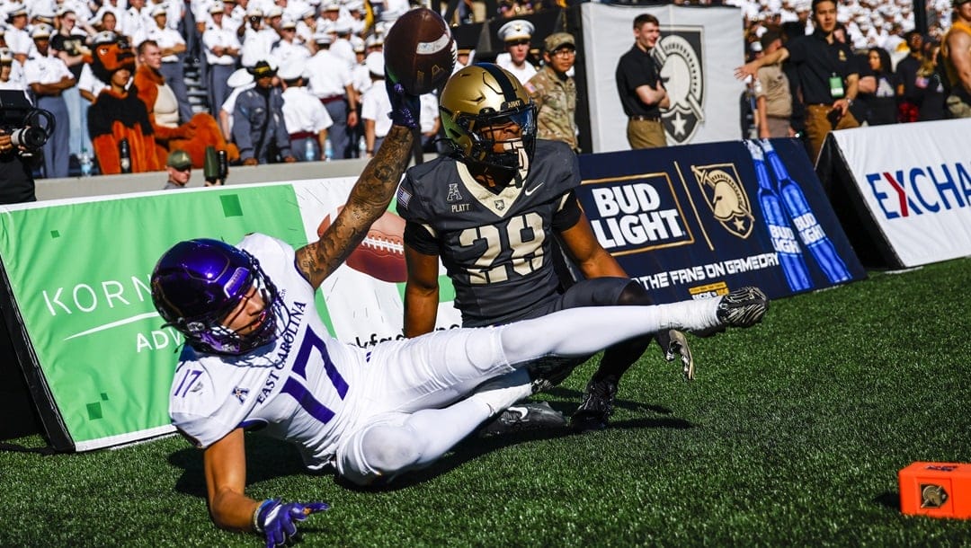
[[[597,240],[657,303],[742,285],[778,298],[828,287],[844,271],[865,277],[805,148],[770,145],[797,183],[776,184],[757,141],[668,146],[582,155],[577,198]],[[819,242],[838,260],[818,259]]]

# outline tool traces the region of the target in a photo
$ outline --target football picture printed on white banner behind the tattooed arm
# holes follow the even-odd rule
[[[339,206],[340,213],[344,206]],[[317,236],[330,226],[330,215],[323,217],[317,227]],[[360,242],[348,257],[347,265],[353,270],[391,283],[402,283],[408,279],[405,265],[405,219],[385,211],[368,229],[364,241]]]

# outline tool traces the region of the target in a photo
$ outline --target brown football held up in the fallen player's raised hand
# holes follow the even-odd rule
[[[385,70],[412,95],[431,93],[452,76],[455,41],[445,19],[427,8],[398,17],[385,38]]]

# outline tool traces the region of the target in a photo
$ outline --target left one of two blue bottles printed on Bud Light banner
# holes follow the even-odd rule
[[[786,274],[786,281],[792,291],[812,289],[813,281],[809,278],[809,270],[802,258],[799,242],[788,225],[786,213],[775,190],[769,180],[768,170],[765,168],[762,149],[754,141],[744,141],[752,155],[755,166],[755,178],[758,180],[758,204],[762,208],[762,220],[769,231],[772,248],[776,250],[779,264]]]

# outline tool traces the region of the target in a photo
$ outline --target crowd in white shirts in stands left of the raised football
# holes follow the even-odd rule
[[[373,125],[358,119],[361,98],[374,81],[365,58],[382,51],[386,31],[411,7],[409,0],[0,0],[0,87],[22,89],[34,105],[58,110],[57,139],[45,146],[52,161],[39,177],[75,175],[92,156],[103,174],[128,169],[116,159],[119,152],[107,151],[105,140],[92,142],[94,127],[97,135],[114,137],[113,144],[123,139],[133,145],[113,130],[112,111],[96,109],[101,119],[88,119],[103,92],[122,99],[113,75],[103,75],[106,81],[91,70],[99,45],[138,51],[139,70],[131,70],[131,80],[120,87],[145,103],[144,118],[151,120],[143,124],[145,132],[159,149],[157,161],[133,162],[136,172],[161,169],[176,145],[196,168],[207,145],[227,149],[232,161],[245,164],[357,157],[370,149],[364,127]],[[281,93],[287,86],[305,86],[306,93]],[[270,95],[259,91],[270,88]],[[199,90],[197,99],[190,89]],[[306,102],[308,94],[326,109],[318,116],[322,122],[286,127],[284,138],[273,129],[273,139],[260,139],[262,125],[275,119],[266,115],[263,96]],[[378,127],[381,137],[383,124]],[[251,130],[245,146],[235,143],[243,129]],[[289,150],[287,139],[300,148]]]

